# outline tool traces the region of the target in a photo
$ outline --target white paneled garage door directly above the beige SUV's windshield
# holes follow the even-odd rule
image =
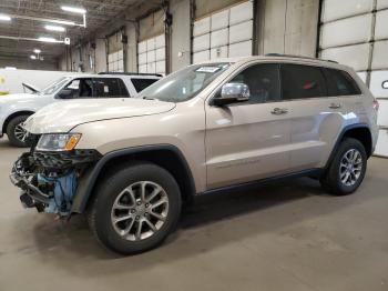
[[[193,63],[252,56],[253,1],[244,1],[194,21]]]

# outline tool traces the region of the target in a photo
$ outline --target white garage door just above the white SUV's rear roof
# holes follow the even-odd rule
[[[139,42],[137,53],[139,72],[165,74],[164,34]]]

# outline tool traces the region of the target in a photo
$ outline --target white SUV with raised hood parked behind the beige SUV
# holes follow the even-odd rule
[[[130,98],[161,79],[160,74],[99,73],[65,76],[42,91],[0,98],[0,138],[6,133],[14,147],[27,147],[22,127],[28,117],[57,101],[84,98]]]

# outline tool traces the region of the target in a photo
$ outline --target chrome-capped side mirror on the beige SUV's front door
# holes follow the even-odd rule
[[[214,106],[226,106],[236,102],[248,101],[249,88],[245,83],[226,83],[221,89],[221,94],[213,99]]]

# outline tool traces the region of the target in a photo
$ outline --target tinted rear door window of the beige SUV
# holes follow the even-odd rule
[[[327,96],[325,78],[317,67],[282,64],[283,99]]]

